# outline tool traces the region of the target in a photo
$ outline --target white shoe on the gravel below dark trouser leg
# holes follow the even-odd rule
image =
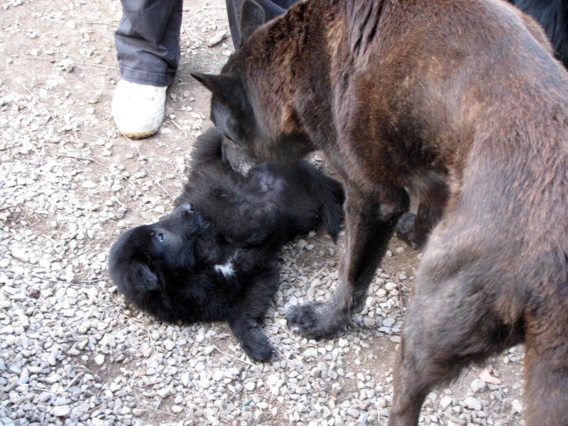
[[[111,103],[119,131],[129,138],[147,138],[157,132],[164,119],[165,89],[120,80]]]

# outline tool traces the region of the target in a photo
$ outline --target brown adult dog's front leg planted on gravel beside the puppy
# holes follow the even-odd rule
[[[331,300],[294,306],[288,312],[289,327],[307,339],[333,337],[352,312],[363,308],[398,218],[408,210],[403,188],[380,185],[373,189],[347,185],[346,249],[339,265],[339,285]]]

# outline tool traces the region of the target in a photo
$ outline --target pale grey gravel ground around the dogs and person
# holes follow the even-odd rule
[[[285,310],[328,297],[341,244],[313,232],[285,248],[267,364],[226,325],[156,322],[109,281],[111,241],[168,212],[210,126],[189,72],[217,71],[231,52],[224,2],[185,1],[167,119],[134,142],[109,117],[119,2],[0,5],[0,425],[385,425],[419,261],[400,242],[364,312],[325,342],[290,332]],[[515,347],[431,393],[420,425],[522,425],[523,356]]]

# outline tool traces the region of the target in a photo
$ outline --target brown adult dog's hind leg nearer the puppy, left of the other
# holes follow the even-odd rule
[[[431,248],[427,246],[425,255]],[[446,257],[447,253],[440,256]],[[389,426],[417,425],[422,403],[432,388],[449,383],[465,366],[523,338],[522,325],[506,324],[496,311],[496,296],[483,280],[494,277],[480,279],[474,269],[479,266],[459,270],[455,264],[438,262],[424,273],[424,260],[395,361]]]

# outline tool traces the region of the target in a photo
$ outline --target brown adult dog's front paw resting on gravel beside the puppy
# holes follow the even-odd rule
[[[334,315],[322,302],[290,307],[286,321],[293,332],[306,339],[329,339],[345,322],[342,315]]]

